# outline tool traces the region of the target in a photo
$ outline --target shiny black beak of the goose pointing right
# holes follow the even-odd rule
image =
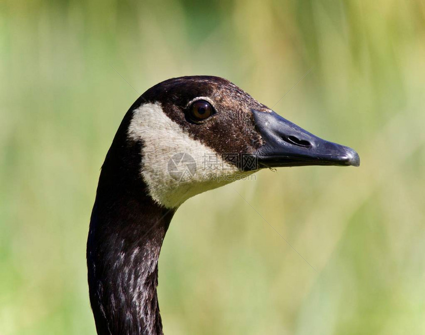
[[[252,112],[264,141],[254,153],[260,168],[360,165],[359,155],[349,147],[325,141],[275,112]]]

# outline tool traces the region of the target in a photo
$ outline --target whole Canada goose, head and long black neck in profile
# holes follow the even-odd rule
[[[116,132],[90,217],[97,334],[163,334],[158,258],[173,214],[190,197],[261,168],[359,164],[353,149],[307,132],[223,78],[180,77],[149,88]]]

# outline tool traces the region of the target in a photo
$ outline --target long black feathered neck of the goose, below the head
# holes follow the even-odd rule
[[[90,304],[101,335],[162,334],[158,257],[174,211],[147,193],[141,143],[127,140],[130,119],[128,112],[103,164],[87,240]]]

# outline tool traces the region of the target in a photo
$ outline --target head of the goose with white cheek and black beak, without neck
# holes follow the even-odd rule
[[[351,148],[311,134],[222,78],[170,79],[136,104],[127,140],[140,144],[140,174],[166,208],[261,168],[359,165]]]

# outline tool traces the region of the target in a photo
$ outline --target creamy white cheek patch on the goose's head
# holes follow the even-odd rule
[[[141,175],[149,195],[167,208],[177,208],[199,193],[228,184],[237,176],[253,173],[239,170],[213,149],[191,138],[163,112],[159,103],[145,103],[133,111],[128,137],[142,140]],[[190,155],[196,163],[196,170],[191,169],[189,178],[178,180],[169,173],[169,161],[178,153]],[[214,164],[206,170],[206,159],[211,162],[212,157]],[[215,177],[211,178],[212,175]]]

